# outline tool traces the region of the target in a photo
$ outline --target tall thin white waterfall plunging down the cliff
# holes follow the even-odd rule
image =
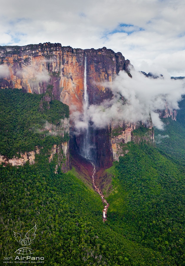
[[[84,130],[84,142],[82,156],[90,159],[90,137],[89,137],[89,118],[87,110],[89,108],[89,97],[87,93],[87,57],[85,53],[85,68],[84,68],[84,99],[83,99],[83,121],[87,124],[87,129]]]

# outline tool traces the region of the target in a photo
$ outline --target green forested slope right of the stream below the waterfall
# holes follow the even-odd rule
[[[184,265],[184,173],[154,147],[125,146],[108,197],[110,227]]]

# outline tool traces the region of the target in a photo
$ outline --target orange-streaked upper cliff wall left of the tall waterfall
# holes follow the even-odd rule
[[[44,93],[53,85],[55,99],[81,108],[83,90],[83,51],[44,43],[0,48],[1,64],[9,75],[0,87],[22,88],[29,93]]]

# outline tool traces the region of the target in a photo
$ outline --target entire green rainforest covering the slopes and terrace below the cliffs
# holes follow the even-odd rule
[[[35,128],[43,127],[46,120],[57,124],[68,117],[67,106],[51,100],[50,108],[46,104],[42,109],[43,95],[20,90],[0,90],[0,95],[1,155],[11,158],[35,145],[50,147],[61,141]],[[112,178],[105,223],[99,195],[79,179],[74,168],[54,173],[56,157],[49,163],[41,153],[33,165],[1,164],[0,265],[8,258],[14,262],[15,251],[21,248],[14,232],[24,239],[36,225],[36,237],[29,247],[34,257],[44,257],[44,265],[185,266],[182,112],[183,108],[180,121],[177,116],[177,121],[166,123],[163,132],[155,129],[156,136],[169,135],[155,147],[145,141],[123,144],[129,152],[105,170]]]

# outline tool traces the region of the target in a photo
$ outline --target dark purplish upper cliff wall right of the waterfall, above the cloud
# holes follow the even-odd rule
[[[87,56],[87,92],[90,104],[99,104],[109,99],[112,93],[109,88],[100,83],[111,82],[120,70],[129,72],[129,60],[121,53],[114,53],[111,49],[85,50]]]

